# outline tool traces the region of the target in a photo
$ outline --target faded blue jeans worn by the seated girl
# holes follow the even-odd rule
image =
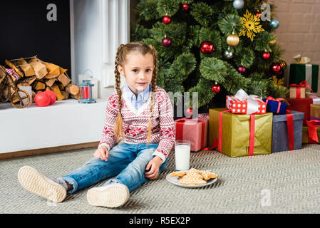
[[[104,185],[117,182],[126,185],[132,192],[148,180],[145,178],[145,167],[153,159],[153,152],[157,148],[158,144],[155,143],[149,145],[146,143],[120,143],[116,145],[110,150],[106,162],[93,157],[82,167],[62,177],[63,180],[73,186],[73,190],[69,190],[68,194],[115,176],[115,178],[105,182]],[[159,173],[166,166],[167,160],[160,165]]]

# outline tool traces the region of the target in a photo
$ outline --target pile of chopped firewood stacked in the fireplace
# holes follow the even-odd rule
[[[16,85],[32,86],[32,97],[44,90],[56,93],[57,100],[80,99],[80,88],[71,83],[66,69],[53,63],[41,61],[37,56],[5,60],[6,66],[16,71],[19,78],[14,78]]]

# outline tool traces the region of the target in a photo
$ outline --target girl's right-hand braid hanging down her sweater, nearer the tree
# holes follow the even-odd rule
[[[153,63],[155,68],[153,69],[153,78],[151,80],[150,119],[149,119],[149,125],[148,125],[148,143],[147,143],[148,145],[151,139],[151,130],[152,130],[153,105],[154,105],[153,95],[155,94],[155,86],[157,86],[157,76],[158,76],[158,68],[157,68],[158,53],[152,45],[150,45],[149,47],[151,49],[151,53],[153,54]]]

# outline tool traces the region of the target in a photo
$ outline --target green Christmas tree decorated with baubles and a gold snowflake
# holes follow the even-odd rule
[[[225,95],[240,88],[262,98],[285,98],[287,64],[272,33],[279,26],[274,9],[254,0],[142,0],[130,41],[155,46],[158,86],[190,96],[197,92],[202,110],[224,105]]]

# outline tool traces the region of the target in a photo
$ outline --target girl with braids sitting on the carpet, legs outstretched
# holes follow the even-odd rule
[[[144,43],[120,45],[115,57],[115,90],[105,111],[103,134],[93,158],[82,167],[50,178],[33,167],[21,167],[21,185],[36,195],[62,202],[72,194],[108,177],[102,187],[87,192],[88,203],[120,207],[130,192],[155,180],[167,164],[175,141],[170,98],[156,86],[157,52]],[[120,75],[126,86],[120,88]]]

